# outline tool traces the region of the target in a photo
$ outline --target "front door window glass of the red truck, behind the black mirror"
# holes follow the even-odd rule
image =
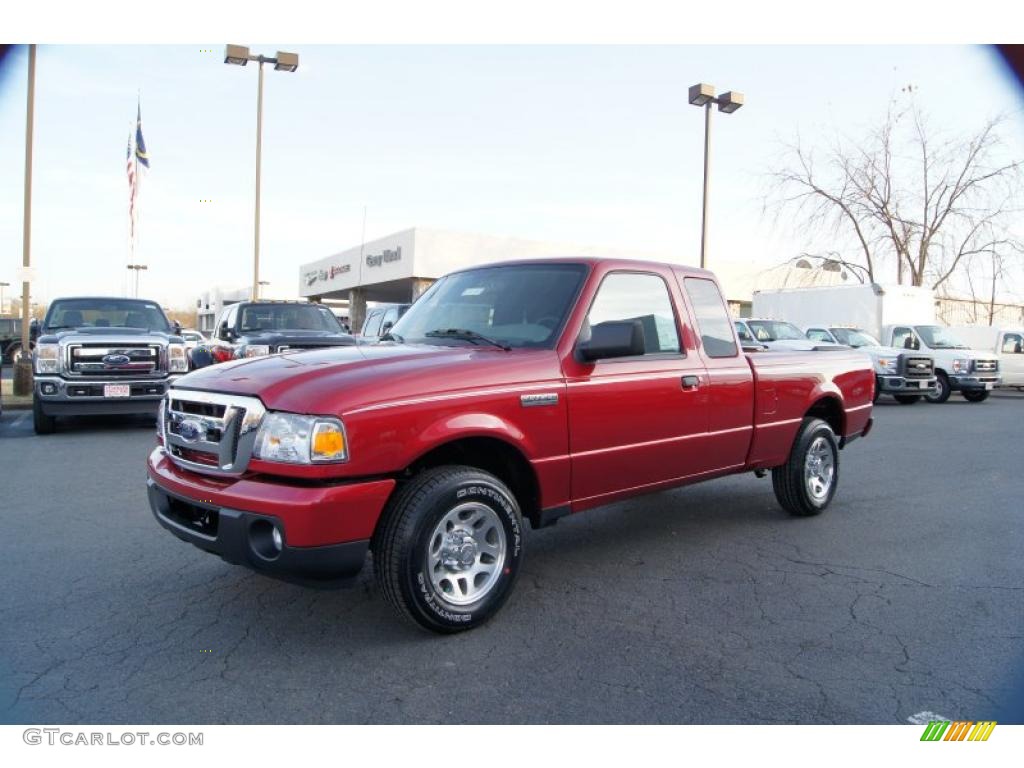
[[[590,328],[631,319],[643,327],[644,354],[680,351],[669,287],[658,275],[612,272],[602,281],[587,315]]]

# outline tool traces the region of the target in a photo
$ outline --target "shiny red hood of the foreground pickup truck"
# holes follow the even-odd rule
[[[384,343],[231,360],[183,376],[175,386],[256,396],[272,411],[342,415],[380,402],[560,376],[550,349]]]

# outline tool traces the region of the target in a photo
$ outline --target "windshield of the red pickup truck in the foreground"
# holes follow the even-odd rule
[[[455,272],[437,281],[393,329],[396,341],[467,344],[431,332],[471,331],[509,347],[551,348],[575,302],[583,264],[515,264]],[[480,340],[476,340],[479,342]]]

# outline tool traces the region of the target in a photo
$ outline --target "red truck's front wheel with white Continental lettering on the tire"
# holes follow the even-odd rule
[[[466,507],[478,510],[488,520],[485,525],[492,529],[485,530],[484,537],[494,534],[497,538],[501,528],[504,539],[499,541],[504,542],[504,554],[499,561],[481,551],[494,544],[481,543],[477,547],[475,541],[466,545],[468,550],[457,550],[462,557],[467,551],[472,554],[473,567],[483,564],[484,557],[492,558],[486,564],[496,566],[490,577],[478,574],[484,575],[485,590],[479,599],[457,604],[453,599],[472,598],[460,593],[476,590],[477,586],[467,584],[466,579],[441,567],[439,562],[431,568],[429,559],[433,547],[444,551],[444,542],[438,539],[444,518],[463,514],[459,510]],[[471,516],[465,519],[473,521]],[[467,527],[473,526],[467,523]],[[461,527],[449,530],[450,536],[468,536]],[[426,470],[398,488],[384,510],[372,547],[377,583],[385,599],[402,616],[424,629],[441,634],[473,629],[498,612],[512,592],[522,562],[522,531],[518,502],[494,475],[464,466]],[[435,584],[437,579],[440,585]],[[444,588],[445,582],[449,588]]]

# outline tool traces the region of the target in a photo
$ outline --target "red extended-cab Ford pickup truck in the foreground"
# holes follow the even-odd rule
[[[821,512],[873,387],[853,350],[745,353],[700,269],[486,265],[439,280],[380,344],[179,379],[150,503],[178,538],[286,579],[351,577],[370,551],[400,613],[455,632],[509,596],[524,520],[767,470],[788,512]]]

